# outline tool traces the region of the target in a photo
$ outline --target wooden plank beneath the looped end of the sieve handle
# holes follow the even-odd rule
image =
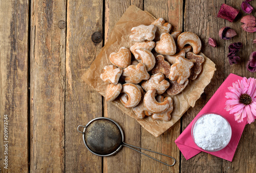
[[[172,24],[172,31],[182,30],[182,9],[183,1],[151,1],[144,0],[144,10],[150,12],[156,18],[162,17],[168,23]],[[165,133],[158,138],[154,137],[142,128],[141,131],[141,147],[154,150],[176,158],[177,163],[172,166],[166,166],[144,155],[141,156],[141,172],[177,172],[179,170],[179,148],[175,144],[175,140],[180,135],[180,121],[170,127]],[[156,154],[145,152],[163,162],[172,164],[173,160],[167,157],[161,157]]]

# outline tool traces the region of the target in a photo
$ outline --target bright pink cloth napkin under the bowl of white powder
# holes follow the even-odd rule
[[[225,108],[225,102],[227,98],[226,92],[230,92],[227,88],[232,86],[233,82],[236,82],[238,80],[241,80],[242,77],[230,74],[226,80],[221,84],[220,88],[216,91],[216,93],[210,98],[210,100],[205,104],[203,109],[198,113],[198,115],[194,118],[193,121],[186,127],[186,129],[181,133],[181,135],[176,139],[175,143],[179,147],[181,153],[184,155],[185,159],[188,160],[191,157],[194,157],[195,155],[199,154],[200,152],[205,152],[201,148],[199,148],[195,142],[192,139],[191,136],[191,127],[194,123],[194,121],[197,119],[198,116],[205,114],[205,113],[217,113],[222,115],[227,119],[229,124],[231,125],[232,129],[232,136],[231,140],[228,143],[228,145],[223,148],[222,150],[218,152],[206,152],[211,155],[220,157],[222,159],[232,161],[234,152],[236,152],[238,142],[241,138],[241,135],[243,133],[244,127],[247,123],[247,121],[243,121],[241,123],[238,123],[234,120],[234,115],[229,114],[224,108]]]

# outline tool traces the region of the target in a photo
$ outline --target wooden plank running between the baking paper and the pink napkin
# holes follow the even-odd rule
[[[183,116],[182,129],[194,119],[194,117],[203,108],[214,92],[224,81],[224,49],[223,40],[218,36],[219,29],[224,26],[224,19],[217,18],[219,7],[224,1],[186,1],[184,13],[184,31],[191,31],[199,35],[202,41],[202,52],[216,63],[217,71],[210,84],[205,88],[204,94],[197,101],[195,107],[191,107]],[[217,40],[218,48],[212,48],[208,45],[208,38]],[[181,156],[181,172],[202,172],[211,170],[212,172],[221,172],[222,159],[206,154],[199,155],[189,159]]]

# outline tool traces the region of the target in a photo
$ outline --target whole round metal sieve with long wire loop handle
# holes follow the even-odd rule
[[[79,128],[83,127],[83,131],[79,131]],[[167,166],[173,166],[176,163],[175,158],[171,156],[164,155],[162,153],[154,152],[152,150],[140,148],[134,145],[126,144],[123,142],[124,135],[122,128],[112,119],[99,117],[91,120],[86,126],[78,125],[77,131],[82,133],[83,142],[86,145],[87,149],[90,150],[93,154],[97,156],[111,156],[116,154],[122,146],[127,146],[137,152],[150,157],[158,162],[161,162]],[[172,165],[166,164],[160,160],[157,160],[151,156],[148,156],[139,150],[143,149],[148,152],[153,152],[159,155],[163,155],[174,160]]]

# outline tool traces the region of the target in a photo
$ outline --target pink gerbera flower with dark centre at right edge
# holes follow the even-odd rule
[[[228,87],[231,93],[226,93],[226,111],[234,114],[234,119],[242,122],[247,117],[250,124],[256,118],[256,79],[244,77],[242,80],[233,83],[233,87]]]

